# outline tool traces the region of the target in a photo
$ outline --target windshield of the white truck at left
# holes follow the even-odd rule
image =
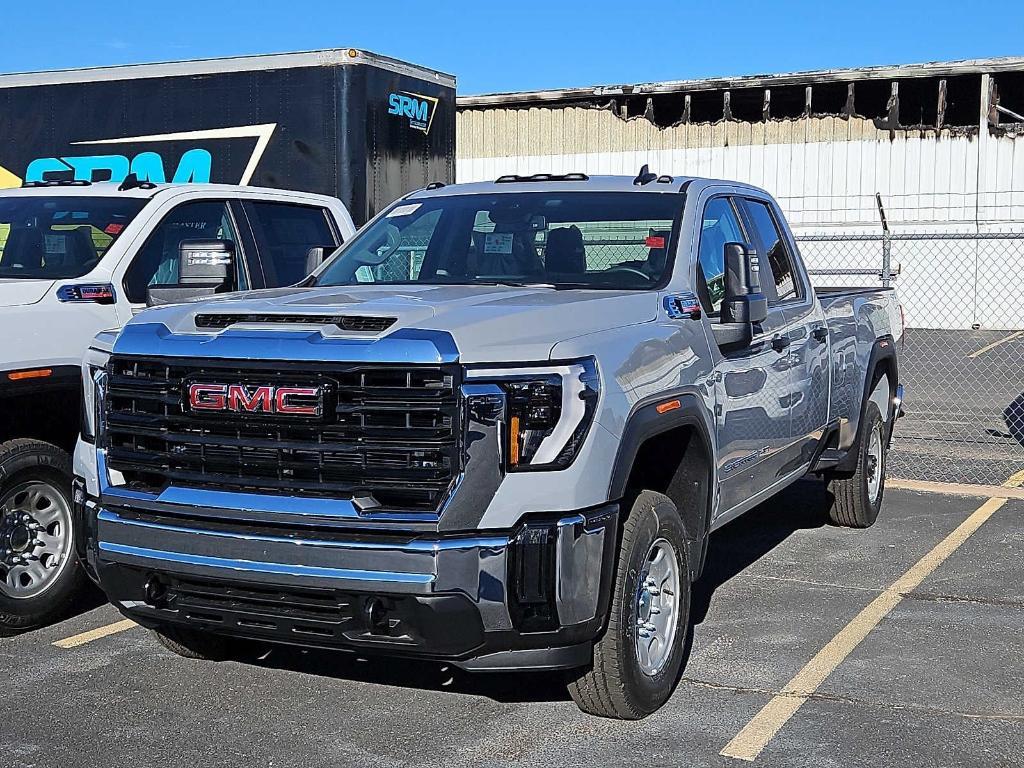
[[[138,198],[0,198],[0,278],[81,278],[145,203]]]

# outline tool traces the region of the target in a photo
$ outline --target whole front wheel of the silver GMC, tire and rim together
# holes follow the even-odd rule
[[[689,572],[676,506],[642,492],[623,527],[608,628],[593,666],[568,685],[581,710],[639,720],[669,699],[689,629]]]

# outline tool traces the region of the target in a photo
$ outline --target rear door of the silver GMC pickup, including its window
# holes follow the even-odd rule
[[[792,471],[811,460],[828,420],[827,327],[799,261],[796,244],[787,237],[785,226],[780,225],[781,214],[767,200],[744,198],[742,203],[758,252],[765,254],[761,260],[762,290],[769,303],[785,313],[790,345],[784,358],[793,376],[793,436],[786,447],[786,467]]]

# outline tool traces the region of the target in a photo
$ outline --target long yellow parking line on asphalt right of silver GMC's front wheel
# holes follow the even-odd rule
[[[836,671],[879,622],[895,608],[903,597],[916,589],[982,523],[1007,503],[989,499],[939,542],[931,552],[914,563],[885,592],[874,598],[852,622],[840,630],[772,699],[754,716],[743,729],[720,753],[723,757],[755,760],[768,742],[788,722],[804,702]]]

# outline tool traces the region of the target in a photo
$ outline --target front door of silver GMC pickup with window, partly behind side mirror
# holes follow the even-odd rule
[[[753,243],[736,201],[712,198],[703,209],[697,245],[698,293],[712,323],[718,319],[724,294],[723,248],[737,242]],[[786,317],[776,304],[769,306],[768,317],[750,345],[716,355],[713,380],[722,513],[743,505],[783,474],[793,399],[785,347],[779,342],[784,338]]]

